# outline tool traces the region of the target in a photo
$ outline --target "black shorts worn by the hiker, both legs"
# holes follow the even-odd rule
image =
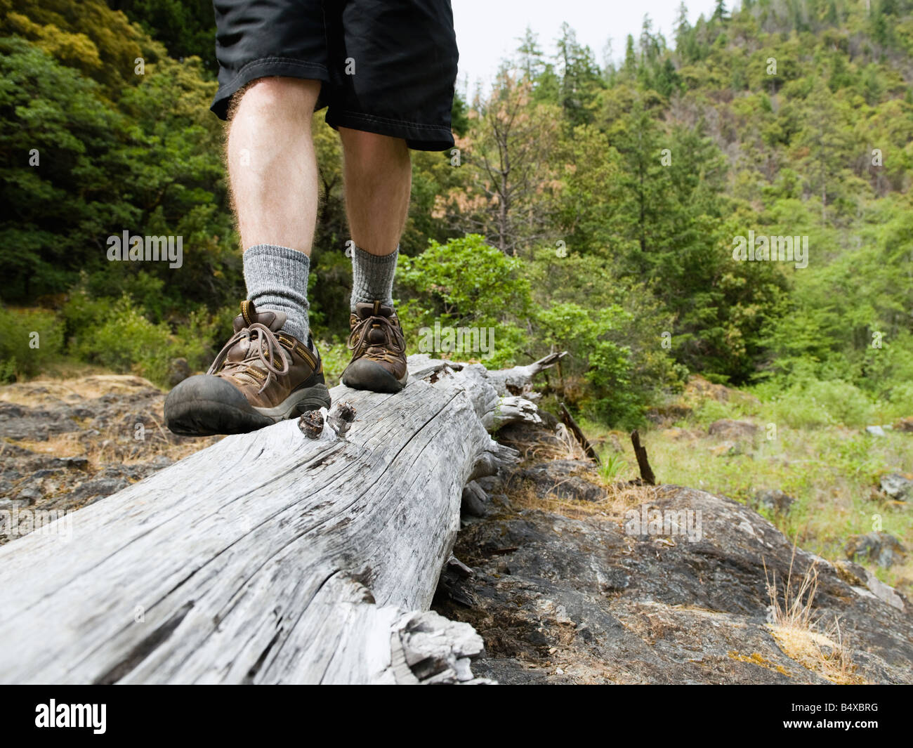
[[[219,90],[269,76],[323,81],[317,109],[333,128],[404,138],[410,148],[454,145],[450,111],[456,34],[450,0],[215,0]]]

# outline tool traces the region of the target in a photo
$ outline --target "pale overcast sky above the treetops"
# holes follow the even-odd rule
[[[647,14],[653,27],[672,43],[672,27],[681,0],[452,0],[456,42],[459,45],[459,83],[468,80],[471,92],[477,80],[488,83],[502,58],[519,45],[516,37],[530,26],[539,35],[540,47],[554,52],[554,40],[567,21],[577,32],[577,40],[593,49],[596,61],[603,64],[603,47],[612,42],[612,57],[624,57],[624,40],[635,39]],[[686,0],[688,20],[694,23],[703,13],[713,13],[714,0]],[[727,3],[731,9],[732,0]]]

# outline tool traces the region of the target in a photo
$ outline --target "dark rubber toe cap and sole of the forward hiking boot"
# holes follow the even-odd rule
[[[291,416],[331,406],[327,385],[305,387],[291,393],[278,406],[251,406],[226,380],[212,374],[185,379],[165,398],[165,424],[182,437],[247,434],[272,426]]]

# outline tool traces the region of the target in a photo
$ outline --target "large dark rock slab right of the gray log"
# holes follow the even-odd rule
[[[536,504],[550,474],[561,512]],[[513,490],[517,475],[531,491]],[[585,464],[532,466],[501,476],[502,486],[488,479],[487,490],[507,495],[465,519],[454,553],[472,572],[445,574],[436,610],[483,637],[478,677],[913,682],[910,604],[863,567],[802,550],[793,557],[792,543],[757,512],[680,486],[639,489],[639,504],[619,508],[611,497],[594,502],[590,484],[581,511],[566,516],[568,492],[587,475]],[[782,605],[791,563],[792,595],[816,570],[812,626],[776,625],[768,581]]]

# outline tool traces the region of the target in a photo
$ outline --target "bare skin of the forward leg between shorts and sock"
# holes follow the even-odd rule
[[[310,118],[319,80],[261,78],[240,94],[228,133],[228,174],[241,244],[310,256],[317,160]]]

